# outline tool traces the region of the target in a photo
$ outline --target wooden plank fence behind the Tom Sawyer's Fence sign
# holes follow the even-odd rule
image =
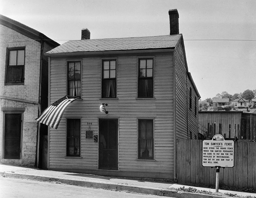
[[[216,168],[202,166],[203,140],[177,139],[177,180],[215,188]],[[234,144],[234,167],[220,169],[220,186],[256,189],[256,142]]]

